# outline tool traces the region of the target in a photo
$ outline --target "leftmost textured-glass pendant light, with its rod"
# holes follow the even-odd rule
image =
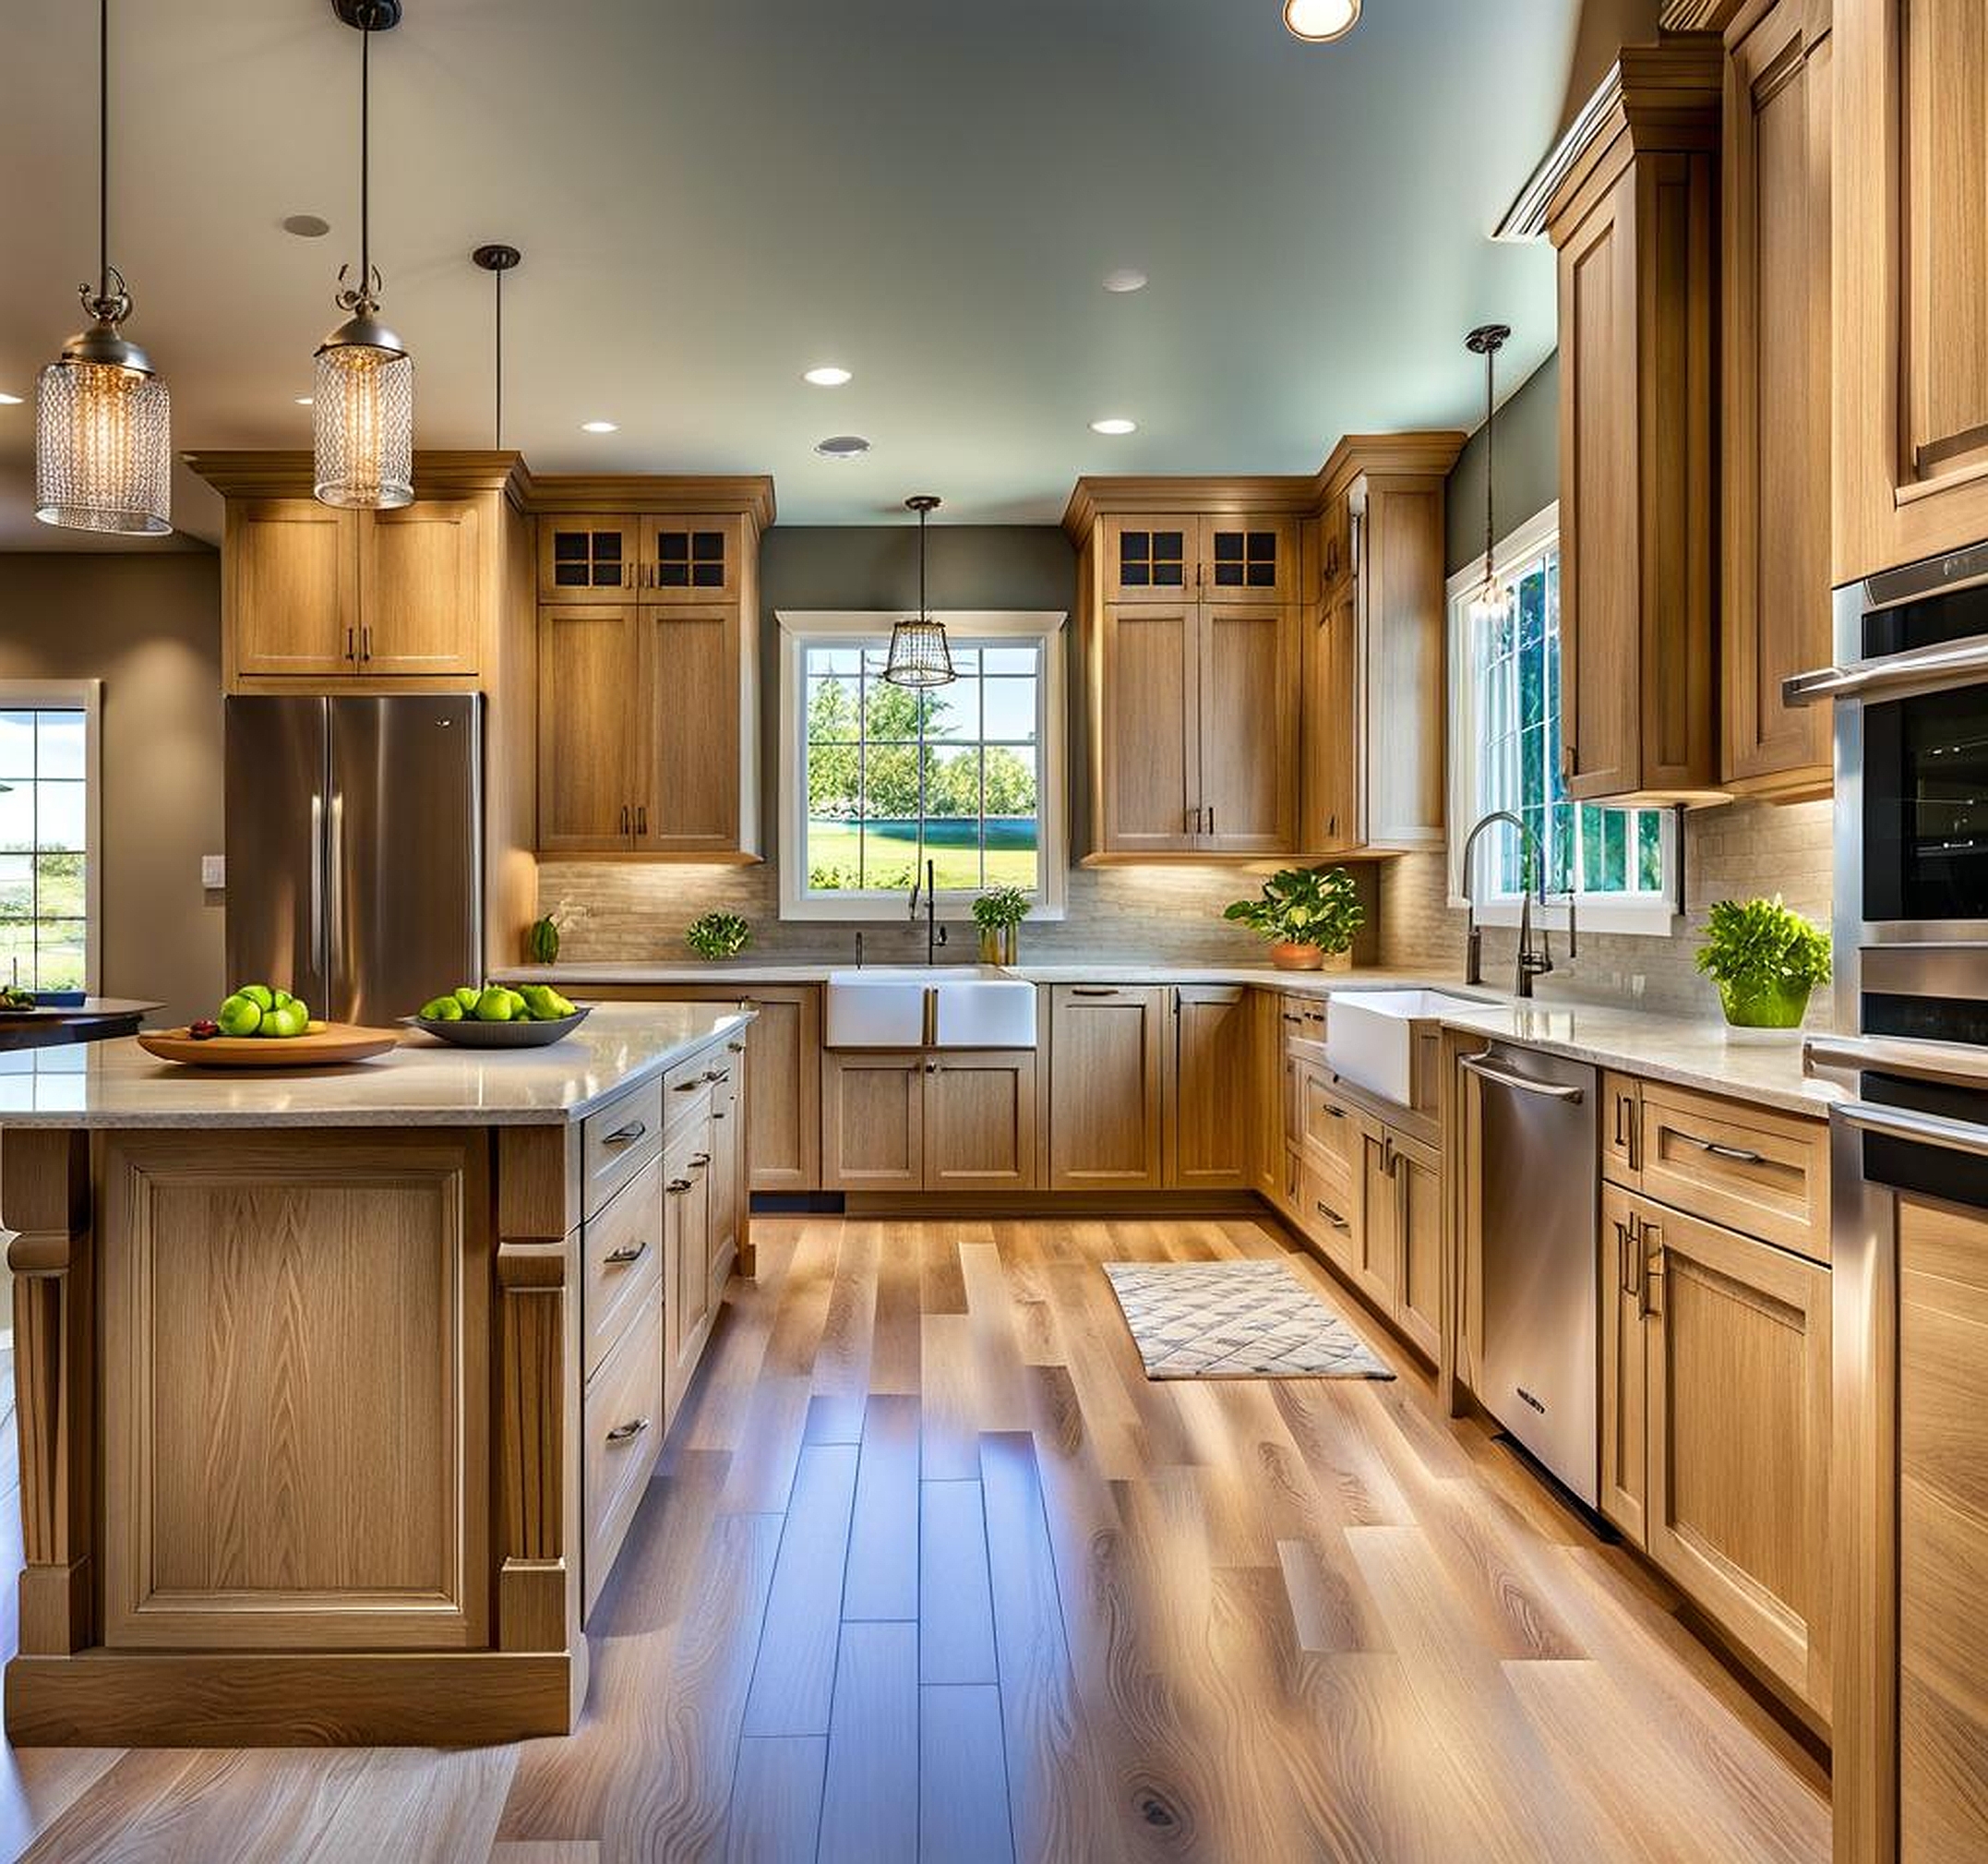
[[[97,4],[97,282],[78,284],[89,328],[42,370],[34,406],[34,515],[68,531],[173,529],[173,402],[131,342],[131,292],[109,259],[111,10]]]

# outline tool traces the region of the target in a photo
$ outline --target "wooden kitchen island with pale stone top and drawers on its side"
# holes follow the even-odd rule
[[[751,1013],[356,1068],[0,1056],[16,1745],[571,1731],[734,1265]]]

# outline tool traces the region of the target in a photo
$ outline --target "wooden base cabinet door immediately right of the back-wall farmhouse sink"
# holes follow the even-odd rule
[[[1159,1190],[1167,993],[1050,993],[1050,1190]]]

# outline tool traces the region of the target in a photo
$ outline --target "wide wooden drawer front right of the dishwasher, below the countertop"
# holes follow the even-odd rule
[[[1743,1235],[1829,1261],[1829,1126],[1642,1084],[1642,1194]]]

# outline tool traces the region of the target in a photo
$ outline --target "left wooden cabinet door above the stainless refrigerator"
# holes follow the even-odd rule
[[[316,499],[229,499],[229,649],[241,678],[358,668],[358,513]]]

